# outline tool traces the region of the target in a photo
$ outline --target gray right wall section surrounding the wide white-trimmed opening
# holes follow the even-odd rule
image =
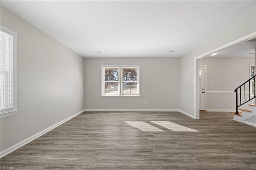
[[[220,32],[214,39],[209,39],[207,43],[202,44],[200,47],[180,57],[180,110],[185,111],[194,117],[199,114],[199,105],[194,105],[194,84],[192,84],[195,75],[194,58],[218,49],[223,45],[236,41],[256,31],[256,2],[247,1],[246,3],[252,3],[252,5],[250,6],[250,9],[248,9],[248,16],[244,18],[244,20],[241,20],[234,25],[230,25],[230,28]]]

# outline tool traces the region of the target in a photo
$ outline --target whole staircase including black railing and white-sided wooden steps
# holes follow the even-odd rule
[[[256,127],[256,105],[248,104],[248,106],[250,106],[250,110],[239,109],[241,112],[238,112],[238,107],[256,98],[255,76],[256,75],[252,76],[249,80],[236,88],[236,113],[232,113],[235,121],[254,127]]]

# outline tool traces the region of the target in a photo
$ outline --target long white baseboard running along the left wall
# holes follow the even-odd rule
[[[76,114],[74,114],[74,115],[72,115],[72,116],[70,116],[70,117],[68,117],[68,118],[66,118],[66,119],[64,119],[64,120],[62,120],[62,121],[56,123],[55,125],[52,125],[51,127],[48,127],[48,128],[46,128],[46,129],[44,129],[43,131],[41,131],[41,132],[39,132],[39,133],[36,133],[35,135],[33,135],[33,136],[31,136],[31,137],[29,137],[29,138],[27,138],[27,139],[25,139],[25,140],[23,140],[23,141],[21,141],[21,142],[15,144],[15,145],[13,145],[12,147],[9,147],[9,148],[3,150],[2,152],[0,152],[0,158],[6,156],[7,154],[13,152],[13,151],[16,150],[16,149],[19,149],[20,147],[26,145],[27,143],[29,143],[29,142],[33,141],[34,139],[36,139],[36,138],[38,138],[38,137],[44,135],[44,134],[47,133],[48,131],[50,131],[50,130],[56,128],[56,127],[58,127],[58,126],[61,125],[62,123],[65,123],[66,121],[72,119],[73,117],[76,117],[77,115],[79,115],[79,114],[81,114],[81,113],[83,113],[83,112],[84,112],[84,110],[79,111],[78,113],[76,113]]]

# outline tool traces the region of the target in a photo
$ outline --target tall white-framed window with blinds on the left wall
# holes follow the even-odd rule
[[[0,117],[16,114],[16,32],[1,26]]]

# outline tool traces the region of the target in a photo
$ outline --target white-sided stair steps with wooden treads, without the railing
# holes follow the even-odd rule
[[[239,114],[232,113],[234,115],[233,120],[256,127],[256,105],[248,104],[248,106],[250,106],[250,110],[239,109],[241,111],[238,112]]]

